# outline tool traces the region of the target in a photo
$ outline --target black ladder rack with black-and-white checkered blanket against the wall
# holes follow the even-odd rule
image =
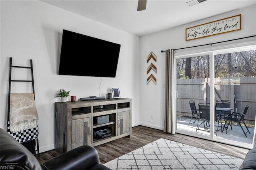
[[[31,70],[31,80],[12,80],[12,68],[22,68],[22,69],[30,69]],[[12,65],[12,57],[10,57],[10,71],[9,71],[9,90],[8,90],[8,115],[7,115],[7,132],[11,134],[18,142],[23,144],[30,152],[33,154],[40,156],[39,152],[39,144],[38,144],[38,126],[36,128],[22,130],[20,132],[11,132],[10,131],[10,94],[11,94],[11,84],[12,82],[31,82],[32,83],[32,91],[35,97],[35,89],[34,89],[34,76],[33,76],[33,64],[32,59],[30,59],[30,67],[23,66],[14,66]],[[37,150],[35,148],[35,142],[37,146]]]

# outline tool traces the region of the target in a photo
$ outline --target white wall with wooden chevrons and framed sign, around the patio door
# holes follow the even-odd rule
[[[256,6],[250,6],[242,8],[240,10],[234,10],[218,16],[213,16],[204,20],[200,20],[193,23],[188,23],[175,28],[170,28],[162,32],[146,35],[140,37],[140,125],[147,127],[163,129],[164,123],[164,99],[165,99],[165,53],[161,53],[161,50],[166,49],[178,49],[183,47],[190,47],[195,45],[203,45],[214,42],[222,42],[225,40],[233,40],[237,38],[243,38],[247,36],[256,35]],[[242,30],[229,32],[226,34],[220,34],[216,36],[210,36],[206,38],[200,38],[196,40],[190,40],[186,42],[185,30],[186,28],[213,22],[223,18],[242,14]],[[235,42],[220,43],[212,45],[216,47],[218,45],[227,45],[240,42],[246,42],[249,40],[256,40],[256,37],[250,39],[239,40]],[[209,48],[200,47],[200,49]],[[192,48],[193,49],[193,48]],[[184,51],[192,50],[186,49]],[[157,73],[150,71],[147,74],[146,70],[149,63],[146,62],[148,54],[153,52],[157,56]],[[177,50],[178,52],[179,50]],[[153,73],[157,79],[156,85],[150,82],[146,84],[147,77]],[[153,115],[153,119],[150,118]]]

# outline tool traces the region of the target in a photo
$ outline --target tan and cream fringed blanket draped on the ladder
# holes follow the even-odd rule
[[[10,131],[35,128],[38,126],[38,114],[33,93],[10,94]]]

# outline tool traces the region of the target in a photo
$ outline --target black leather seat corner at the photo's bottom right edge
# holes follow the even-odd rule
[[[246,154],[239,170],[256,170],[256,142],[254,142],[253,148]]]

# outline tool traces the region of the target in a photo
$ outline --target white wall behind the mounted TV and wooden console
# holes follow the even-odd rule
[[[78,100],[106,96],[112,87],[119,87],[122,98],[132,99],[132,126],[139,125],[138,36],[40,1],[0,1],[0,5],[1,128],[6,129],[9,57],[13,58],[13,65],[29,66],[29,60],[33,60],[40,152],[54,149],[54,102],[60,101],[56,97],[59,89],[71,90],[70,94]],[[100,77],[58,75],[63,29],[121,44],[116,77],[103,77],[100,85]],[[12,79],[22,79],[30,74],[14,71],[12,75]],[[22,83],[12,84],[12,93],[29,93],[30,89],[31,86]]]

